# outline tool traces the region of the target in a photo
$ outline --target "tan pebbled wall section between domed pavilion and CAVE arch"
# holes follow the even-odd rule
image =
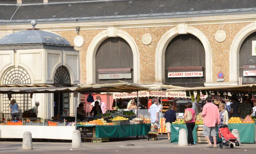
[[[104,30],[81,30],[79,34],[76,31],[54,31],[55,33],[61,35],[67,39],[71,45],[75,47],[76,50],[80,51],[80,83],[86,84],[86,54],[87,48],[93,38]],[[76,36],[82,36],[84,38],[84,44],[78,48],[74,45],[74,39]]]

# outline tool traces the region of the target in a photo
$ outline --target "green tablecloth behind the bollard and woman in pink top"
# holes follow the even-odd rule
[[[197,140],[198,140],[197,131],[196,131],[197,128],[198,128],[198,125],[195,125],[195,128],[193,129],[194,142],[197,142]],[[175,142],[179,141],[179,131],[180,131],[180,129],[186,129],[187,134],[188,134],[186,124],[171,124],[171,142],[172,143],[175,143]]]

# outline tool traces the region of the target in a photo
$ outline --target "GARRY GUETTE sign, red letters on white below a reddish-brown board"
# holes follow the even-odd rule
[[[203,67],[168,67],[168,78],[203,77]]]

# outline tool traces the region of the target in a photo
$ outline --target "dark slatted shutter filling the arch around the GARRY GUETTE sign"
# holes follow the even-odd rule
[[[168,77],[169,67],[203,67],[201,77]],[[194,70],[195,71],[195,70]],[[181,87],[201,87],[205,82],[205,50],[202,42],[192,34],[178,35],[165,52],[165,82]]]

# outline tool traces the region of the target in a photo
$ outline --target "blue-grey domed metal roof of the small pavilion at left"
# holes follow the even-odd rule
[[[17,44],[53,44],[53,45],[70,45],[70,42],[63,37],[47,31],[26,30],[9,34],[0,39],[0,45],[17,45]]]

